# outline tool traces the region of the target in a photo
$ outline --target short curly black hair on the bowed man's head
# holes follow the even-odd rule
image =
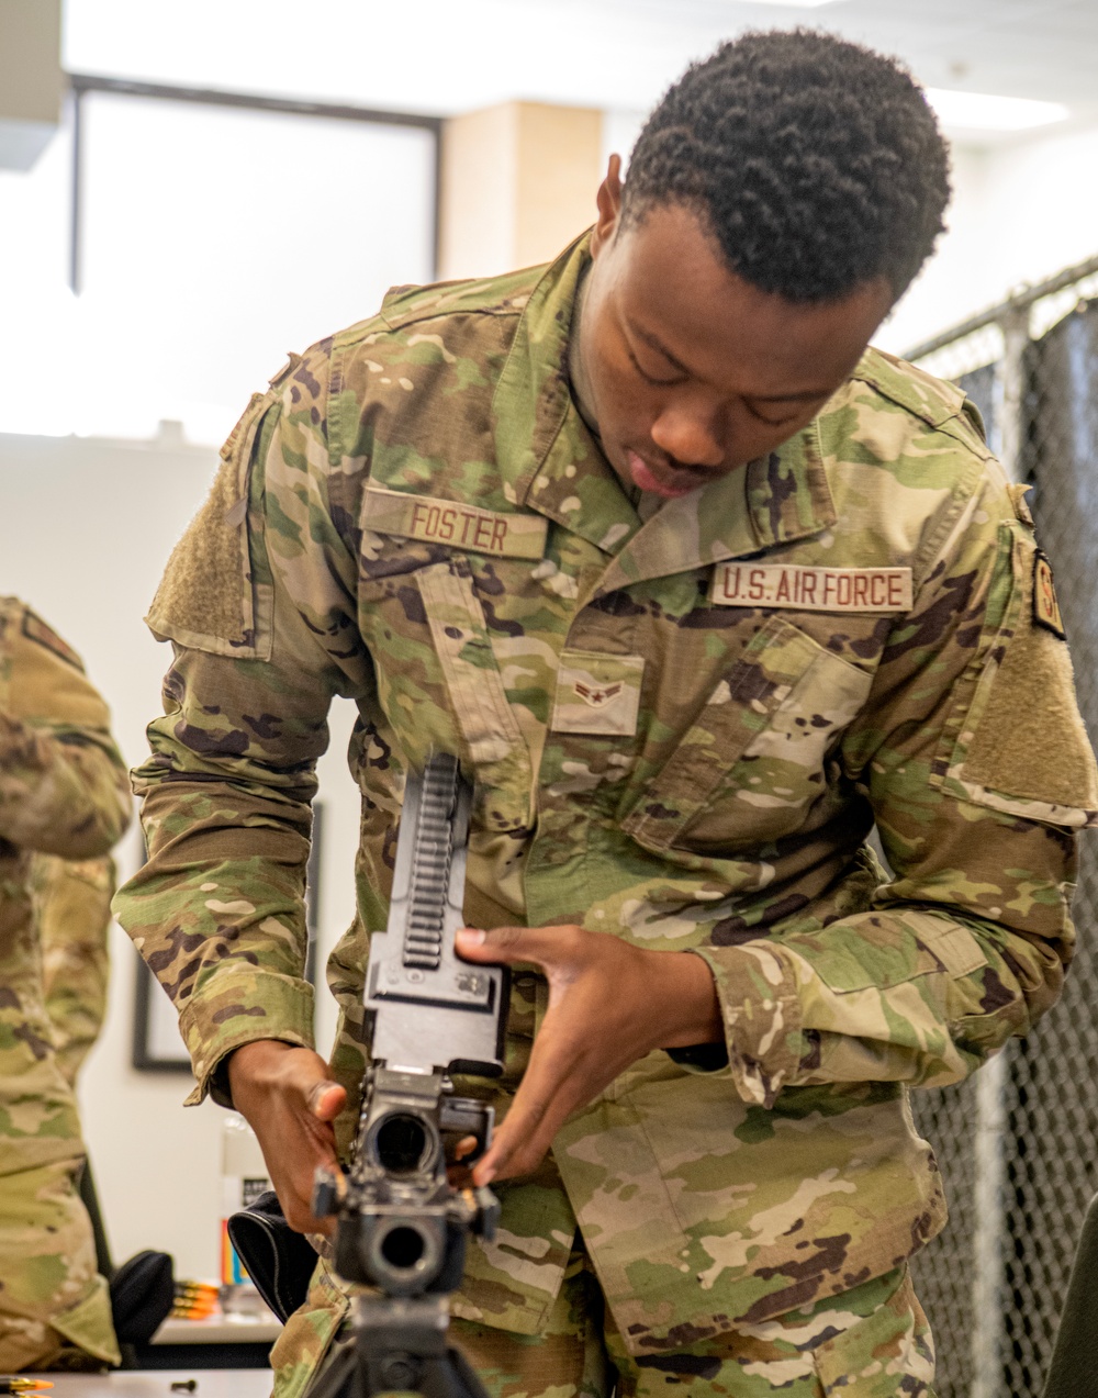
[[[785,29],[722,43],[665,94],[633,148],[622,224],[680,204],[761,291],[831,301],[883,275],[898,298],[949,197],[946,143],[914,78]]]

